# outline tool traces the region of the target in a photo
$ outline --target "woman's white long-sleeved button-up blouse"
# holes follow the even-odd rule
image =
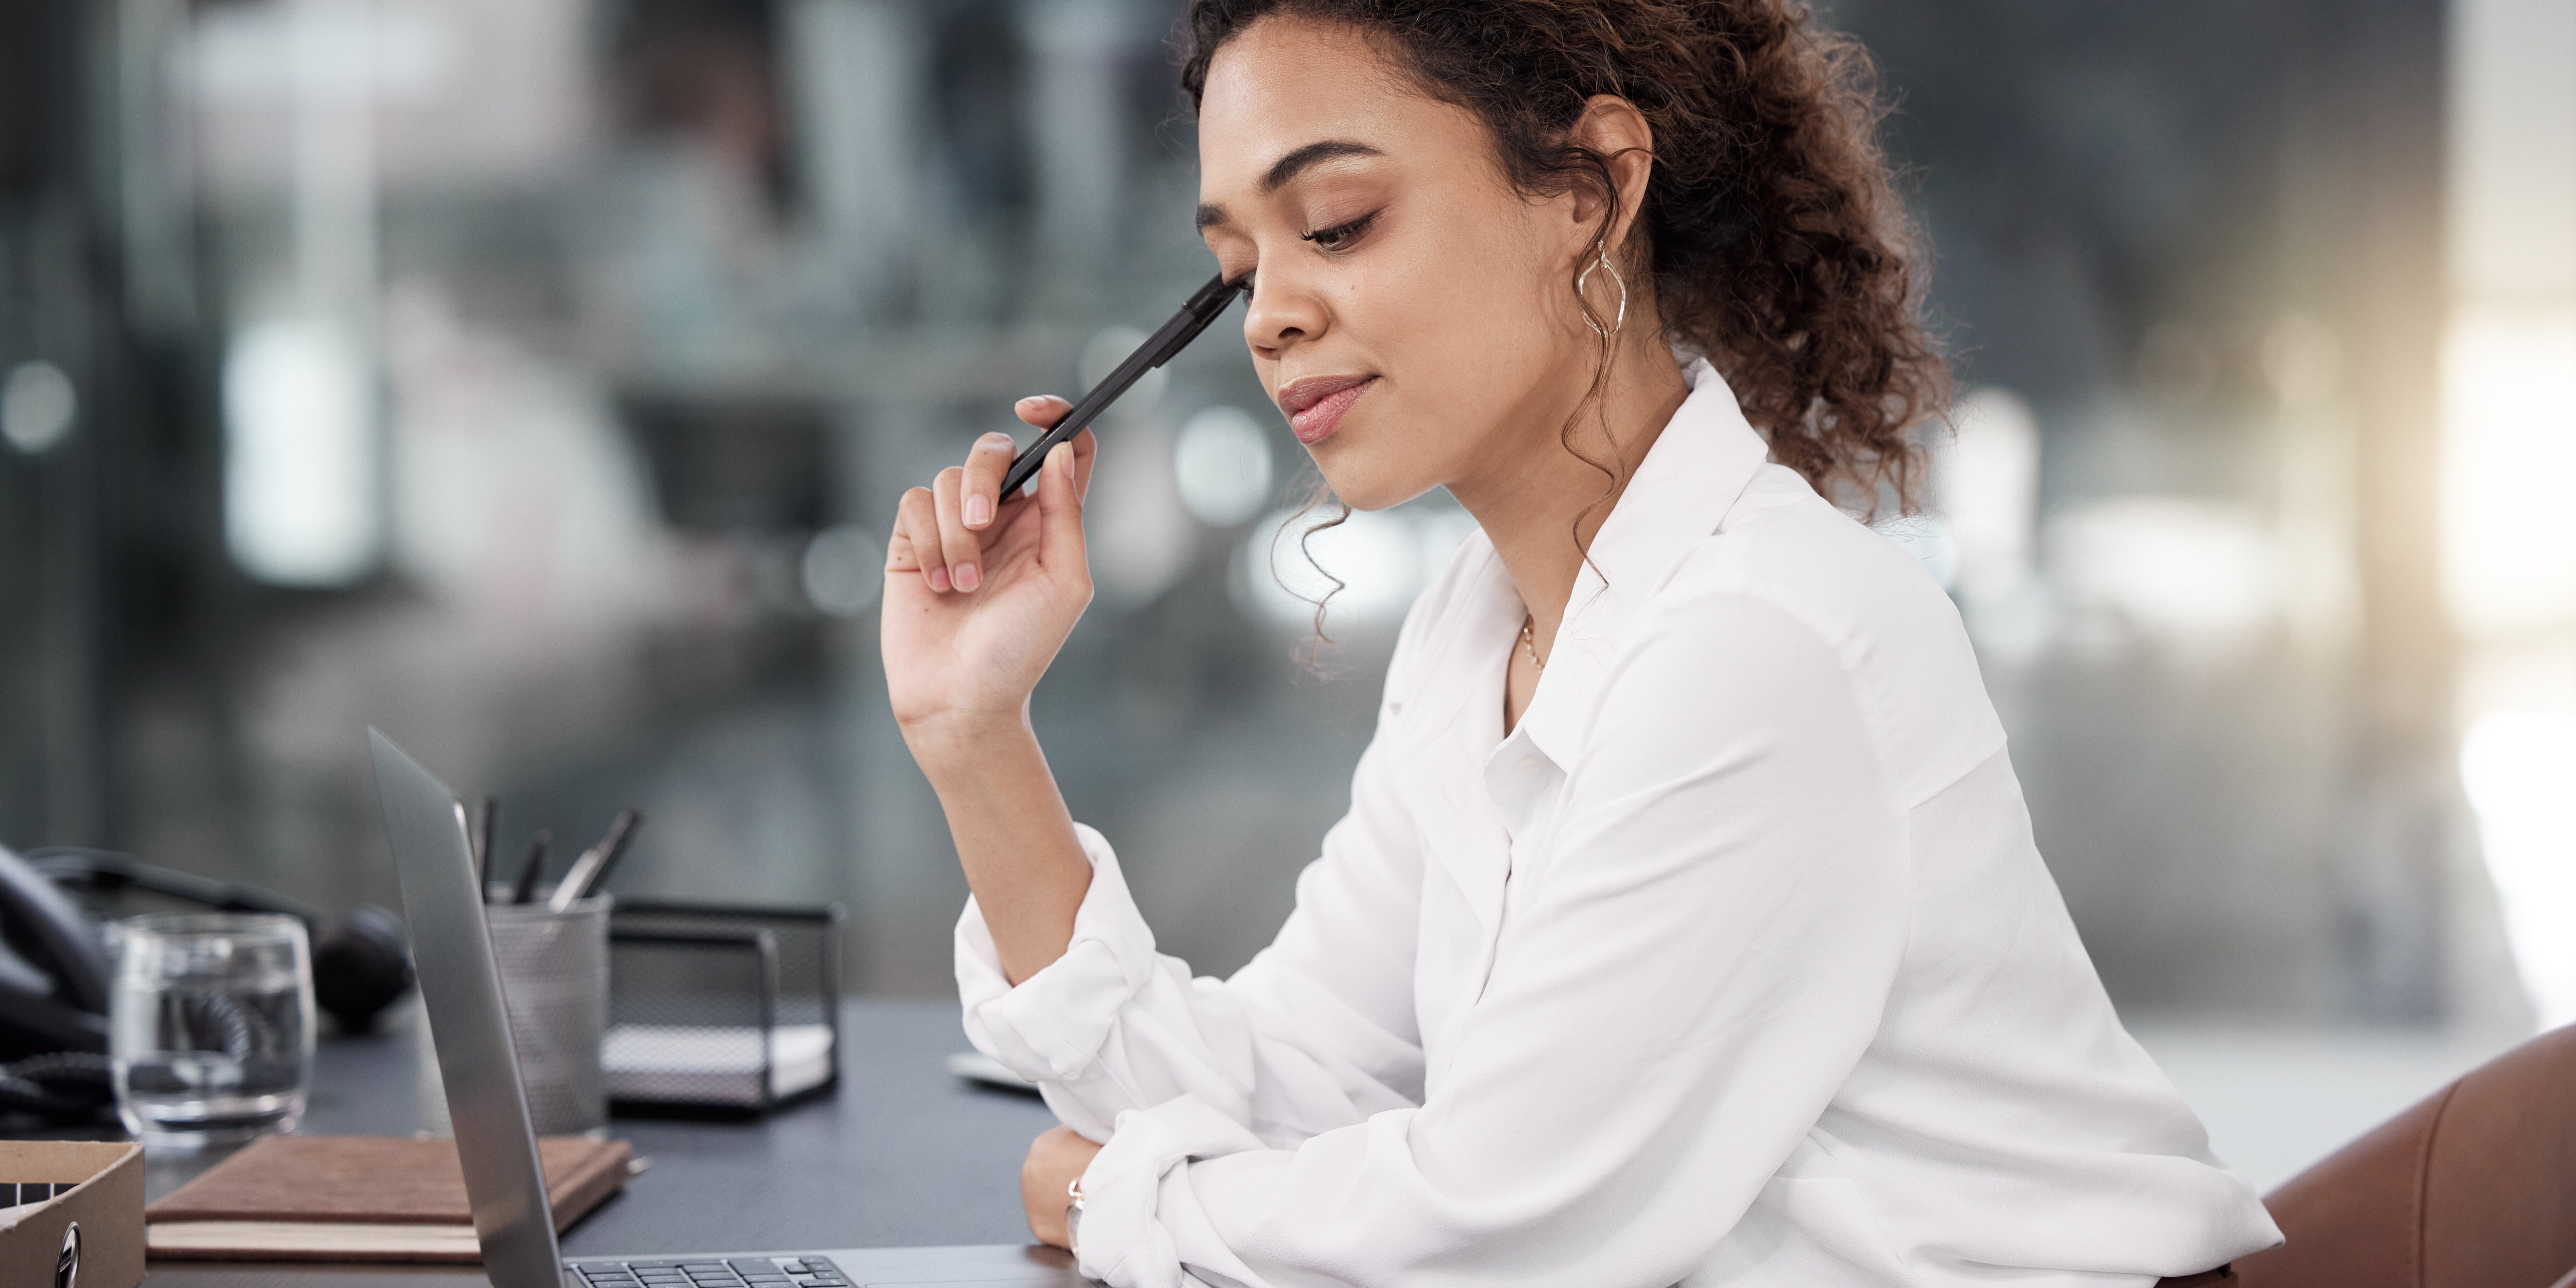
[[[1108,1141],[1113,1285],[2133,1285],[2272,1247],[2120,1028],[1958,613],[1767,464],[1708,363],[1592,544],[1528,714],[1471,536],[1350,814],[1234,979],[1118,858],[976,1048]]]

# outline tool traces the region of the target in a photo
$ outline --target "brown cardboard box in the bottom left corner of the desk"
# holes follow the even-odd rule
[[[144,1280],[144,1146],[0,1141],[0,1185],[72,1190],[0,1216],[0,1288],[134,1288]],[[80,1267],[57,1283],[64,1234],[80,1224]]]

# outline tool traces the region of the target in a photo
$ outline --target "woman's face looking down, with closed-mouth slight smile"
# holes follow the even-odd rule
[[[1303,18],[1218,49],[1198,170],[1208,250],[1252,273],[1252,366],[1345,502],[1553,451],[1600,355],[1569,289],[1597,206],[1520,196],[1476,116]]]

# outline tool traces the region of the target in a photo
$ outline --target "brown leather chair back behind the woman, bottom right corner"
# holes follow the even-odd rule
[[[2576,1025],[2442,1087],[2264,1198],[2241,1288],[2576,1288]]]

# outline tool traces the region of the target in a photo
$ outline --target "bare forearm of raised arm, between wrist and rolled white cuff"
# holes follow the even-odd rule
[[[912,757],[948,814],[966,886],[984,909],[1002,976],[1043,971],[1074,940],[1092,860],[1025,721],[992,729],[907,729]]]

